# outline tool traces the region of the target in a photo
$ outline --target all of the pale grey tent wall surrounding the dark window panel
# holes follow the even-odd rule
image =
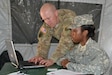
[[[51,0],[54,1],[54,0]],[[60,1],[75,1],[84,3],[98,3],[103,4],[101,23],[99,29],[99,45],[108,53],[112,60],[112,1],[111,0],[60,0]],[[10,0],[0,0],[0,54],[5,50],[5,39],[12,39],[11,27],[11,12]],[[52,49],[57,44],[52,44]],[[36,44],[15,44],[16,50],[24,56],[24,60],[33,57],[36,54]]]

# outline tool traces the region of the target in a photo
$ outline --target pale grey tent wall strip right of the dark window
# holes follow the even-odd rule
[[[99,44],[108,53],[112,61],[112,1],[106,0]]]

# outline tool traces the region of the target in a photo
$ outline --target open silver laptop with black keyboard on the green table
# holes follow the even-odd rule
[[[6,49],[8,50],[8,55],[11,63],[19,69],[28,69],[28,68],[41,68],[45,67],[44,65],[39,65],[39,63],[34,64],[28,61],[18,61],[14,44],[12,40],[5,40]]]

